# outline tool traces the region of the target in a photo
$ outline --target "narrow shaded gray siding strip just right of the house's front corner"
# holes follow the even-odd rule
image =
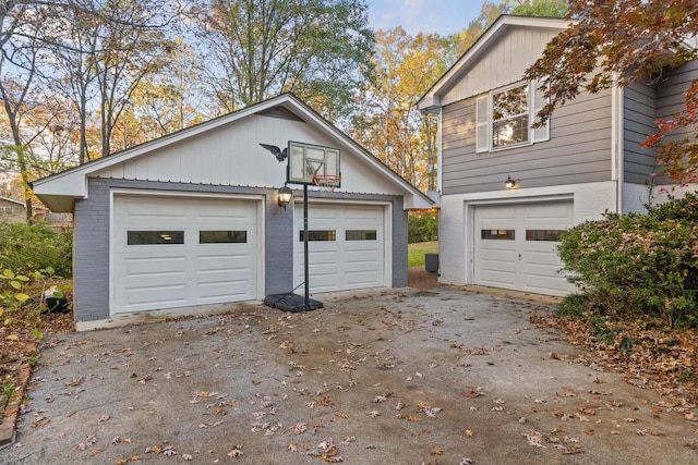
[[[640,144],[657,131],[654,123],[654,87],[651,83],[635,82],[624,90],[623,148],[624,180],[631,184],[646,184],[657,167],[651,149]]]

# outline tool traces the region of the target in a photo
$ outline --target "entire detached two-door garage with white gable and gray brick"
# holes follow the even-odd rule
[[[406,286],[407,210],[432,201],[282,95],[34,183],[52,211],[73,213],[76,321],[302,284],[302,189],[289,183],[294,201],[279,206],[287,163],[260,146],[291,140],[341,160],[338,188],[309,187],[311,292]]]

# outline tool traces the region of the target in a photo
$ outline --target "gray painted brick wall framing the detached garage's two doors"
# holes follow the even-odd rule
[[[276,205],[276,191],[268,188],[179,184],[156,181],[128,181],[89,178],[89,197],[75,203],[73,292],[75,320],[109,318],[109,199],[112,188],[139,188],[189,193],[264,195],[265,208],[265,293],[293,289],[293,211]],[[311,201],[321,194],[309,193]],[[393,287],[407,285],[407,211],[402,198],[386,195],[322,194],[322,198],[381,200],[393,204]]]

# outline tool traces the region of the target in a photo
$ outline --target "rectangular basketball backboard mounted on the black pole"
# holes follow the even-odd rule
[[[288,182],[310,185],[316,174],[339,175],[339,149],[289,140]]]

